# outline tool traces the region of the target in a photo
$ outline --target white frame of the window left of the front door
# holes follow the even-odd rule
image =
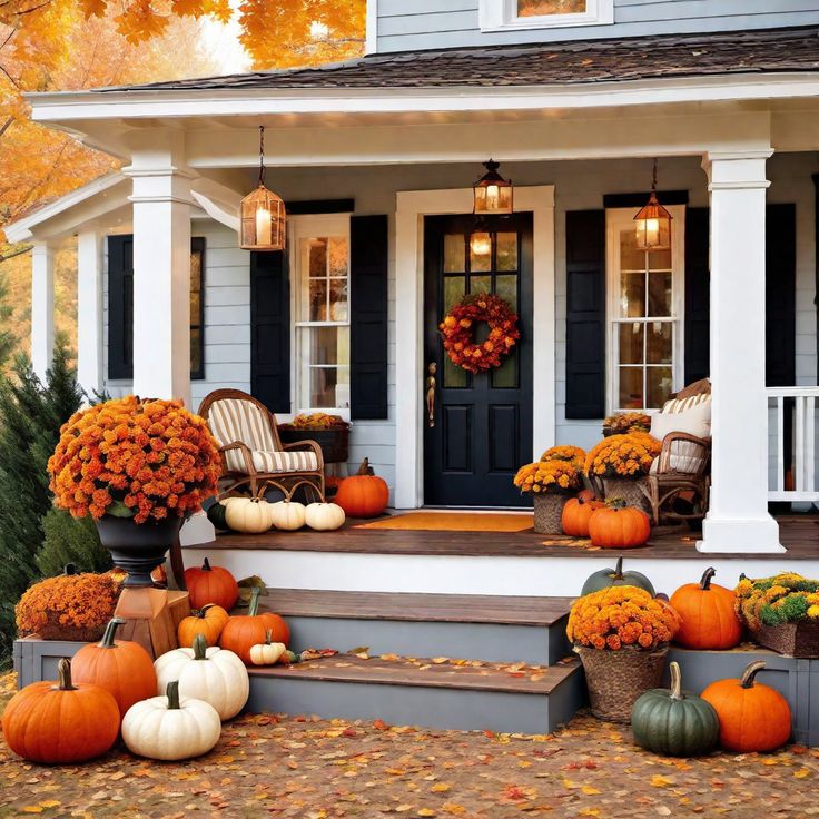
[[[349,317],[352,315],[351,295],[351,269],[349,269],[349,214],[319,214],[290,216],[287,224],[287,247],[290,270],[290,384],[293,385],[290,395],[290,406],[293,406],[294,415],[298,413],[329,413],[341,415],[345,421],[349,421],[349,407],[313,407],[304,406],[302,397],[308,395],[306,392],[305,379],[308,378],[309,369],[309,352],[303,345],[303,336],[305,334],[299,330],[303,327],[349,327]],[[300,239],[314,238],[316,236],[346,236],[347,238],[347,320],[346,322],[303,322],[300,320],[303,272],[299,267],[298,246]],[[352,364],[347,364],[351,369]],[[352,376],[352,373],[351,373]],[[352,385],[352,377],[351,377]],[[292,418],[290,418],[292,420]]]

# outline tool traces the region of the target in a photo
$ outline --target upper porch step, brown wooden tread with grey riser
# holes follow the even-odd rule
[[[376,655],[543,665],[569,653],[570,598],[268,589],[260,602],[287,620],[295,650],[366,645]]]

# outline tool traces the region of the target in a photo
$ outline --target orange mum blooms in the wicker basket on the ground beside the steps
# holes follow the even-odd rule
[[[580,598],[569,614],[566,635],[575,645],[648,651],[671,642],[680,618],[643,589],[613,585]]]

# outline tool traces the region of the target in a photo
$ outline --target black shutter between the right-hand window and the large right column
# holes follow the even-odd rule
[[[685,384],[710,372],[710,220],[708,208],[685,208]]]

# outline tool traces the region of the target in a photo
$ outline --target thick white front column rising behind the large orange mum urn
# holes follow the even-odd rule
[[[134,179],[134,392],[190,405],[190,195],[176,135],[136,152]]]

